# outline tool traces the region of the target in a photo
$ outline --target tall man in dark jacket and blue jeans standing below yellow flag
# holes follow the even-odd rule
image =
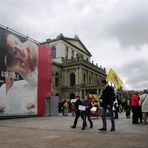
[[[115,93],[114,88],[110,85],[108,85],[108,82],[106,80],[102,80],[103,85],[103,91],[102,95],[100,97],[100,100],[102,101],[102,107],[103,107],[103,114],[102,114],[102,128],[100,128],[100,131],[106,131],[107,130],[107,123],[106,123],[106,111],[109,111],[109,116],[111,119],[111,129],[110,131],[115,131],[115,121],[113,117],[113,103],[115,101]]]

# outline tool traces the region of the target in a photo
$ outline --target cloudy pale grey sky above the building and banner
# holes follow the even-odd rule
[[[0,24],[39,42],[78,35],[124,89],[148,89],[147,0],[3,0]]]

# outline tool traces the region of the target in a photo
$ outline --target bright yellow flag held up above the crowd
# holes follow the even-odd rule
[[[123,81],[119,78],[119,76],[114,72],[112,68],[110,68],[106,80],[113,83],[117,89],[119,89],[123,85]]]

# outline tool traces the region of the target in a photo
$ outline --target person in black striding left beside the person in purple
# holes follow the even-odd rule
[[[84,121],[84,111],[79,110],[79,105],[83,105],[82,101],[80,100],[79,96],[76,96],[76,102],[75,102],[75,120],[71,128],[76,128],[77,122],[79,117],[81,116],[83,120],[82,130],[85,129],[85,121]]]

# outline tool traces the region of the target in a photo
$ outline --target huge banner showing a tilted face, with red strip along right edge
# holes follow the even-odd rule
[[[0,116],[44,114],[50,57],[49,48],[0,27]]]

